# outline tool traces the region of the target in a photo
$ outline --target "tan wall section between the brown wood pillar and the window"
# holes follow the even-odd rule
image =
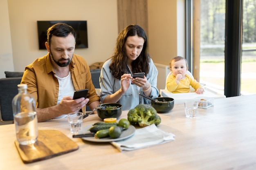
[[[148,0],[148,41],[155,63],[168,65],[177,56],[177,1]]]

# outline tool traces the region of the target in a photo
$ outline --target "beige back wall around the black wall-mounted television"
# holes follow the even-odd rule
[[[46,50],[38,49],[37,20],[87,20],[89,48],[76,49],[75,53],[89,65],[105,61],[112,54],[118,35],[117,0],[7,2],[15,71],[23,71],[26,65],[47,54]]]

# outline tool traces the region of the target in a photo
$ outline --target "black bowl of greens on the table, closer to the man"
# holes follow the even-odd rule
[[[98,116],[101,119],[105,118],[119,118],[122,114],[122,105],[119,103],[103,103],[98,105],[98,107],[104,106],[105,108],[97,109]],[[117,107],[114,109],[108,109],[108,107]]]

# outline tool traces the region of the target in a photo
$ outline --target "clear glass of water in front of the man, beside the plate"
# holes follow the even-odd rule
[[[82,112],[68,113],[67,120],[70,124],[70,132],[78,133],[83,126],[83,113]]]

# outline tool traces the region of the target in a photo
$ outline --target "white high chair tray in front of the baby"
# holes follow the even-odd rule
[[[191,93],[170,93],[167,90],[162,90],[161,91],[161,95],[162,97],[170,97],[170,98],[174,98],[175,102],[174,104],[182,104],[184,103],[185,100],[188,99],[194,99],[197,97],[209,97],[209,98],[226,98],[225,95],[222,94],[218,94],[214,91],[212,91],[211,89],[208,88],[204,88],[204,93],[203,94],[196,94],[195,92],[191,92]]]

